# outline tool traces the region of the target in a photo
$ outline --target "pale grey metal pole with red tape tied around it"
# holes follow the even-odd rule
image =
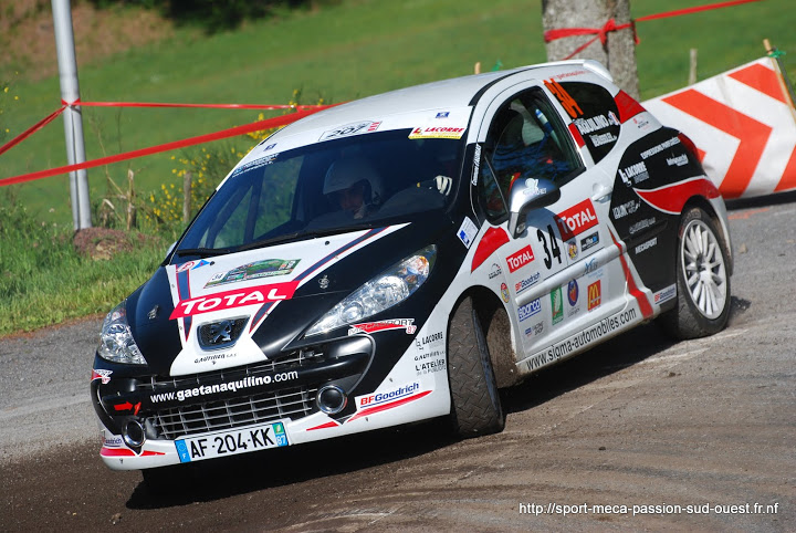
[[[73,103],[80,100],[80,85],[77,83],[77,60],[74,51],[74,34],[72,32],[72,8],[70,7],[70,0],[52,0],[52,8],[59,76],[61,79],[61,100],[66,103]],[[80,106],[67,106],[63,112],[63,117],[66,160],[70,165],[84,163],[83,115]],[[86,176],[85,169],[70,173],[70,194],[72,197],[72,220],[75,231],[83,228],[91,228],[88,177]]]

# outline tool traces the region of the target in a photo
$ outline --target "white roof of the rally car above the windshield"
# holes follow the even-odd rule
[[[608,71],[598,62],[570,60],[520,66],[506,71],[471,74],[438,82],[399,88],[341,104],[296,121],[277,135],[295,135],[310,129],[332,128],[355,121],[390,115],[417,113],[426,109],[458,108],[473,105],[479,93],[502,79],[524,73],[530,80],[543,80],[573,67],[585,67],[610,80]]]

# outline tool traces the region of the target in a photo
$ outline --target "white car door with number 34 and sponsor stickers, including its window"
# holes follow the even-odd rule
[[[544,178],[561,190],[498,250],[522,343],[517,359],[534,370],[579,349],[580,332],[627,305],[608,229],[614,177],[578,149],[572,117],[542,84],[507,91],[485,117],[476,196],[490,223],[506,228],[506,199],[517,182],[533,191]]]

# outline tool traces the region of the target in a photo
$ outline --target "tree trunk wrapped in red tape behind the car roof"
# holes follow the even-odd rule
[[[566,28],[600,29],[610,19],[614,19],[617,25],[630,22],[630,0],[542,0],[542,23],[545,31]],[[596,33],[551,41],[547,43],[547,60],[563,60],[595,36]],[[638,71],[632,28],[610,31],[606,38],[605,45],[598,39],[573,59],[599,61],[610,71],[614,82],[638,100]]]

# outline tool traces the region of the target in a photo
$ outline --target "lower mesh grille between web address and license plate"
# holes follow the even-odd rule
[[[172,407],[158,410],[147,418],[147,422],[154,427],[158,438],[174,440],[179,437],[284,418],[296,420],[317,410],[316,393],[317,388],[298,387],[277,393]]]

